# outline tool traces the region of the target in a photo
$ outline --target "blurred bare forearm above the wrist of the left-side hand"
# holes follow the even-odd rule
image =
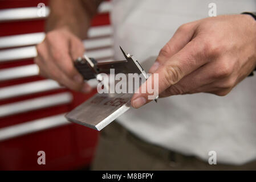
[[[91,18],[101,1],[97,0],[52,0],[51,13],[46,22],[46,32],[56,28],[68,28],[81,39],[86,38]]]

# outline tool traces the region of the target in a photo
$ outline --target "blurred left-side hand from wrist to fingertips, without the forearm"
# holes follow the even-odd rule
[[[38,56],[34,61],[40,69],[40,75],[58,81],[69,89],[88,93],[91,86],[83,81],[76,71],[73,61],[83,56],[82,41],[68,28],[58,28],[47,32],[42,43],[36,46]]]

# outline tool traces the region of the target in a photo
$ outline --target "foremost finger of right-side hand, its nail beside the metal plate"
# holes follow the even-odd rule
[[[196,51],[195,51],[196,50]],[[164,90],[168,89],[171,85],[176,84],[184,76],[192,73],[197,68],[207,63],[207,59],[201,55],[204,51],[204,46],[201,41],[193,39],[193,41],[186,44],[181,51],[177,52],[174,56],[170,57],[163,64],[159,66],[153,75],[151,80],[147,80],[141,85],[139,93],[135,93],[131,99],[131,104],[133,107],[138,108],[152,101],[152,94],[148,88],[153,88],[154,95],[161,94]],[[155,78],[158,80],[155,81]],[[152,81],[153,80],[153,81]],[[155,85],[157,83],[157,85]],[[146,88],[146,92],[142,92]],[[182,93],[180,90],[178,93]],[[149,99],[151,98],[151,99]]]

